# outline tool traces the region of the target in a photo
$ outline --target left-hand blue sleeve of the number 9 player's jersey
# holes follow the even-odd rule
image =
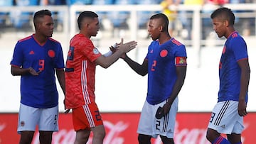
[[[21,67],[23,63],[23,52],[21,48],[21,43],[16,43],[15,48],[14,48],[14,54],[11,59],[11,65]]]

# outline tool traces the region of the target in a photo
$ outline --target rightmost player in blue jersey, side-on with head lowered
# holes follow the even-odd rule
[[[218,103],[213,108],[206,138],[213,144],[241,144],[250,79],[247,45],[235,31],[235,15],[230,9],[216,9],[210,18],[218,37],[227,40],[220,57]],[[227,139],[220,133],[226,134]]]

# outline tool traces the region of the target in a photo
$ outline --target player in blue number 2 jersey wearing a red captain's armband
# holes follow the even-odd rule
[[[149,144],[160,135],[164,144],[174,143],[174,125],[178,111],[178,93],[186,77],[186,48],[168,32],[169,20],[163,13],[151,16],[152,42],[142,65],[127,55],[123,59],[138,74],[148,74],[146,101],[137,133],[140,144]],[[161,107],[162,109],[157,109]],[[157,111],[157,112],[156,112]]]

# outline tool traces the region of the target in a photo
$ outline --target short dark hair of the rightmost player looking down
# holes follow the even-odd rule
[[[223,18],[223,20],[227,20],[231,25],[234,25],[235,23],[235,15],[231,9],[228,9],[226,7],[221,7],[219,9],[216,9],[213,11],[213,13],[210,15],[210,18],[216,18],[220,17]]]

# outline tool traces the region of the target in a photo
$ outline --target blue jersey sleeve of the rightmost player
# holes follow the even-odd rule
[[[247,45],[245,40],[240,37],[233,38],[234,42],[232,45],[232,49],[235,55],[235,60],[242,60],[248,58],[247,54]]]

